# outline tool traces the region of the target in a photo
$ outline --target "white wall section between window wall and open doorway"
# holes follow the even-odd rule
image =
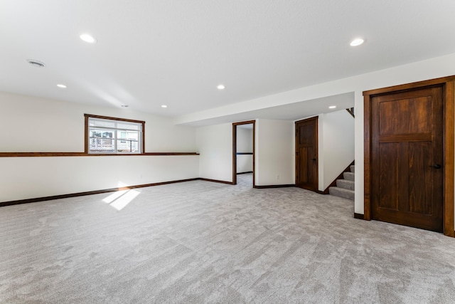
[[[232,182],[232,124],[199,127],[196,138],[199,176]]]

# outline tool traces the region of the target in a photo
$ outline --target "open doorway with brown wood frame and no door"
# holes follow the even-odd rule
[[[255,122],[232,124],[232,184],[255,187]]]

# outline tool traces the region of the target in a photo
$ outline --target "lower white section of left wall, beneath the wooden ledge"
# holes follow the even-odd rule
[[[0,201],[198,177],[198,156],[0,157]]]

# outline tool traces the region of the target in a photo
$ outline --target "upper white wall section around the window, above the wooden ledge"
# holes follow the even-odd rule
[[[144,120],[146,152],[196,151],[196,128],[166,117],[1,92],[0,106],[0,152],[84,152],[85,113]]]

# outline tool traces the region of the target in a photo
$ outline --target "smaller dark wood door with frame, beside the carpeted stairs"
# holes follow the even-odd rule
[[[318,189],[318,117],[296,122],[296,187]]]

